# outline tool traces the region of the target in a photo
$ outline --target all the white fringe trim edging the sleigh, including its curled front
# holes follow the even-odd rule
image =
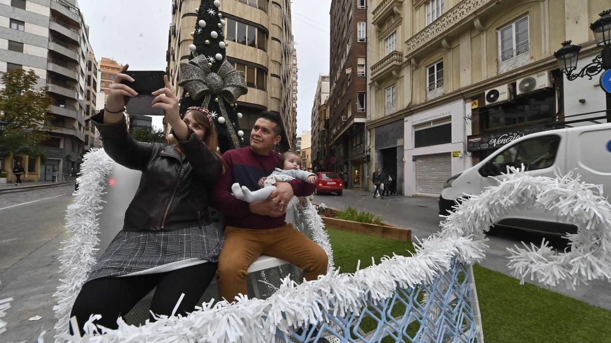
[[[305,220],[313,230],[315,241],[329,255],[329,272],[316,281],[296,284],[286,278],[279,290],[266,300],[241,298],[234,305],[227,301],[204,303],[186,317],[161,317],[141,327],[117,320],[119,329],[107,330],[93,325],[97,316],[86,323],[86,336],[70,336],[67,316],[73,297],[78,293],[87,272],[92,267],[97,245],[97,214],[102,188],[100,180],[109,172],[111,162],[98,151],[87,156],[87,168],[78,195],[81,197],[68,209],[71,232],[69,242],[73,251],[64,250],[62,273],[73,275],[62,279],[62,302],[56,306],[57,338],[70,342],[273,342],[276,329],[287,333],[326,320],[326,313],[344,316],[356,314],[366,306],[366,300],[384,300],[397,287],[407,288],[432,283],[450,269],[453,258],[473,264],[485,257],[485,231],[503,212],[518,204],[538,206],[554,211],[579,225],[580,231],[569,236],[573,251],[556,255],[546,247],[517,248],[510,267],[518,275],[531,274],[537,280],[568,284],[611,275],[611,207],[600,195],[591,191],[592,185],[564,176],[558,179],[525,175],[510,170],[500,186],[491,187],[456,207],[442,223],[440,233],[414,244],[413,256],[382,258],[378,265],[357,270],[354,274],[340,274],[333,268],[331,245],[323,230],[322,220],[309,204],[303,210]],[[86,186],[86,185],[90,186]],[[89,203],[87,203],[89,201]],[[85,205],[85,204],[88,205]],[[79,204],[78,206],[76,204]],[[81,206],[81,207],[79,207]],[[78,217],[77,212],[82,212]],[[78,222],[76,222],[78,218]],[[88,226],[88,227],[86,227]],[[86,245],[86,247],[83,247]],[[77,252],[78,251],[78,252]],[[75,258],[79,256],[78,259]],[[65,262],[64,262],[65,261]],[[99,333],[104,333],[99,335]]]

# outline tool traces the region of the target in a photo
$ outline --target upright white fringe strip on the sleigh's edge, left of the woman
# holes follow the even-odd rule
[[[53,294],[57,298],[57,305],[53,306],[57,319],[56,333],[68,331],[72,305],[97,262],[95,251],[100,244],[98,215],[102,211],[106,176],[113,164],[103,149],[93,149],[83,157],[79,188],[65,216],[69,237],[60,248],[59,286]]]

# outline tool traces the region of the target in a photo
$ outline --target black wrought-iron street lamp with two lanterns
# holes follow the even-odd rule
[[[599,13],[601,16],[590,25],[590,29],[594,32],[596,45],[602,48],[601,54],[596,56],[592,62],[588,63],[579,73],[574,74],[577,70],[577,61],[579,60],[579,51],[581,46],[572,45],[571,41],[562,42],[562,48],[554,52],[554,57],[558,60],[558,67],[566,74],[568,81],[573,81],[577,78],[587,76],[590,80],[602,70],[611,69],[611,9]],[[604,75],[604,74],[603,74]],[[602,80],[601,80],[601,88]],[[607,123],[611,123],[611,93],[606,92],[607,97]]]

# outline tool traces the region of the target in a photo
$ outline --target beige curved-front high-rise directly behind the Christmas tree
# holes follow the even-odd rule
[[[193,42],[199,0],[177,0],[172,9],[172,25],[167,51],[170,82],[176,87],[180,63],[188,62]],[[243,114],[240,129],[244,143],[249,143],[252,126],[265,110],[282,118],[285,140],[295,148],[296,138],[296,57],[293,51],[291,3],[281,1],[224,0],[220,12],[225,19],[227,60],[236,70],[246,73],[248,93],[238,99],[237,110]],[[293,98],[295,100],[293,101]]]

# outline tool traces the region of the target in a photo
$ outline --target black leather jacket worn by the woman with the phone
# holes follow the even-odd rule
[[[209,192],[221,173],[221,159],[191,131],[174,145],[136,142],[125,119],[103,124],[103,111],[91,118],[100,131],[104,150],[115,162],[141,170],[136,195],[125,211],[127,231],[171,231],[211,222]]]

